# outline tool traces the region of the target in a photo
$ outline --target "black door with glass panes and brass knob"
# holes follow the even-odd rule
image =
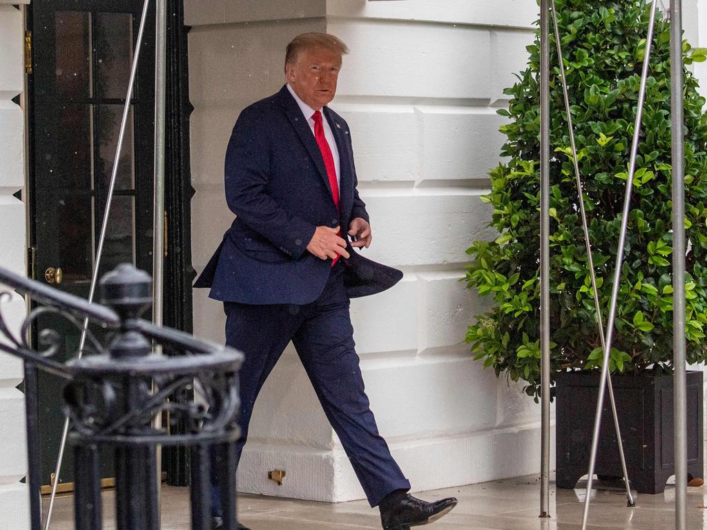
[[[88,298],[143,2],[35,0],[30,6],[30,217],[40,281]],[[152,268],[154,10],[149,11],[139,73],[119,159],[100,273],[131,262]],[[59,273],[59,269],[61,273]],[[98,289],[95,300],[99,300]],[[62,359],[74,356],[80,331],[56,317],[39,329],[62,335]],[[88,352],[87,352],[88,353]],[[62,382],[40,377],[42,478],[59,452]],[[67,450],[60,483],[73,483]],[[104,476],[112,476],[105,459]]]

